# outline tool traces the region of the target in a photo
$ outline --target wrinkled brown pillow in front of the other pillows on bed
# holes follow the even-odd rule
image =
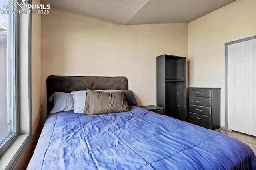
[[[129,111],[126,94],[123,90],[101,92],[87,89],[84,107],[85,115],[106,114]]]

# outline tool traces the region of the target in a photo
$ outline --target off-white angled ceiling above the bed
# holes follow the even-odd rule
[[[58,8],[121,25],[189,23],[235,0],[41,0]]]

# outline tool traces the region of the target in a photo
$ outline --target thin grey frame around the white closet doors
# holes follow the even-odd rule
[[[240,43],[243,41],[249,41],[251,39],[256,39],[256,35],[225,43],[225,127],[224,129],[228,129],[228,45]]]

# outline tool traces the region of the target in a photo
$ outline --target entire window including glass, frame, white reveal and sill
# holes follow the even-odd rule
[[[31,137],[31,14],[28,0],[0,2],[0,169],[12,169]]]

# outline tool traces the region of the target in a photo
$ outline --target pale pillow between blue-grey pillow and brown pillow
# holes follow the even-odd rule
[[[74,113],[84,113],[86,90],[71,92],[74,102]]]

